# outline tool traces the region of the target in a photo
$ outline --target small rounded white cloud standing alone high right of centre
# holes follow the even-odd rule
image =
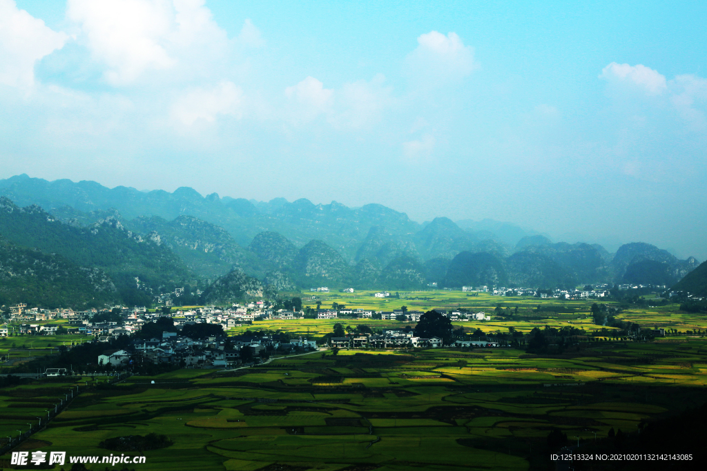
[[[427,85],[458,81],[474,70],[474,48],[464,46],[455,32],[431,31],[417,38],[418,46],[407,55],[411,78]]]

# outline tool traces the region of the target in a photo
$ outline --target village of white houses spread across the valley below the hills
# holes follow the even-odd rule
[[[468,313],[464,311],[442,311],[450,321],[490,321],[491,316],[484,312]],[[422,311],[408,311],[406,308],[394,311],[372,311],[366,309],[318,309],[319,320],[371,319],[382,321],[419,322]],[[382,328],[375,332],[353,332],[349,330],[341,336],[307,338],[270,333],[268,335],[185,335],[185,328],[191,326],[210,326],[211,331],[228,333],[231,328],[250,326],[254,321],[298,321],[305,312],[274,309],[274,305],[259,300],[247,304],[232,304],[223,309],[217,306],[203,306],[194,309],[156,309],[150,311],[144,306],[127,308],[114,306],[100,311],[88,309],[28,308],[25,304],[10,307],[10,314],[5,326],[0,328],[0,337],[17,335],[71,335],[78,343],[99,342],[107,346],[119,338],[127,339],[127,345],[120,349],[107,349],[93,366],[100,369],[127,369],[142,363],[169,364],[183,368],[232,369],[263,362],[272,354],[291,354],[310,352],[319,347],[334,350],[346,349],[404,349],[443,347],[443,340],[438,337],[419,338],[414,330],[406,328]],[[110,320],[106,320],[110,318]],[[59,321],[59,322],[57,322]],[[148,323],[160,322],[168,330],[151,338],[144,338],[143,328]],[[174,326],[174,329],[171,329]],[[214,330],[215,329],[215,330]],[[124,337],[123,337],[124,336]],[[457,340],[457,347],[496,347],[498,344],[486,340],[476,342]],[[53,371],[52,374],[59,374]]]

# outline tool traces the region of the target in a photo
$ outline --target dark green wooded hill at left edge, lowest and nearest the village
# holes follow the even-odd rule
[[[0,237],[0,306],[24,302],[30,307],[86,309],[120,301],[115,285],[98,268],[80,267]]]

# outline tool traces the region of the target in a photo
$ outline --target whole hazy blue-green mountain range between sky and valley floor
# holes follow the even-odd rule
[[[672,286],[699,265],[650,244],[625,244],[610,254],[597,244],[553,243],[491,220],[437,217],[419,224],[376,204],[262,203],[203,197],[189,188],[142,192],[26,175],[0,180],[0,198],[0,261],[6,266],[62,266],[54,278],[73,280],[67,281],[72,286],[94,270],[90,278],[98,281],[84,283],[85,292],[67,295],[66,303],[149,304],[181,285],[203,288],[201,300],[209,302],[319,285]],[[13,278],[15,288],[4,284],[0,304],[21,301],[18,286],[31,278],[23,273]]]

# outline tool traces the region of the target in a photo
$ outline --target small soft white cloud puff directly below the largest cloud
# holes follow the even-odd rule
[[[191,126],[198,119],[213,122],[218,114],[243,116],[243,90],[223,81],[214,88],[195,88],[182,95],[172,107],[173,119]]]

